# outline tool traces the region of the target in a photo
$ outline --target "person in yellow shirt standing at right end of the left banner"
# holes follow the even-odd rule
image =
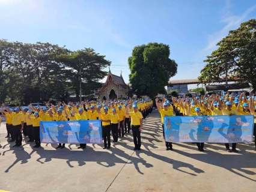
[[[96,109],[97,110],[97,109]],[[111,122],[111,114],[108,113],[108,107],[104,107],[104,113],[98,111],[99,115],[102,117],[102,135],[103,135],[103,140],[104,140],[104,147],[103,149],[110,148],[111,143],[110,143],[110,122]],[[112,131],[113,133],[113,131]],[[114,137],[114,136],[113,136]],[[108,143],[107,143],[108,140]],[[114,140],[115,142],[115,140]],[[108,145],[108,146],[107,146]]]

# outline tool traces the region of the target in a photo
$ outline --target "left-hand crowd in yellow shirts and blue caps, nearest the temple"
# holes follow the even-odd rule
[[[143,119],[153,110],[152,100],[110,100],[82,101],[81,103],[50,104],[47,107],[15,107],[8,109],[2,104],[1,114],[6,117],[8,142],[15,142],[12,147],[22,146],[22,133],[28,137],[28,142],[35,142],[34,148],[41,146],[41,121],[88,121],[99,119],[102,122],[103,149],[111,148],[111,132],[113,142],[118,137],[124,137],[132,130],[134,150],[141,149],[141,130]],[[4,110],[5,109],[5,110]],[[0,121],[1,122],[1,121]],[[86,148],[86,143],[80,143],[80,148]],[[56,148],[65,148],[65,143],[59,143]]]

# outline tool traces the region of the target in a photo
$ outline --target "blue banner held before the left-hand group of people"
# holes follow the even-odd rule
[[[99,120],[41,121],[41,143],[97,143],[102,144]]]

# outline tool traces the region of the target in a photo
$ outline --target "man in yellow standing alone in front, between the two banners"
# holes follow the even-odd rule
[[[143,116],[141,112],[138,111],[138,106],[133,104],[133,112],[128,112],[126,109],[126,115],[129,115],[131,118],[132,125],[132,134],[133,134],[133,143],[135,145],[134,150],[141,150],[141,130],[143,124]]]

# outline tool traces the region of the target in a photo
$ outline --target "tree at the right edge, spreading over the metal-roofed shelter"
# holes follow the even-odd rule
[[[230,31],[227,37],[217,44],[204,62],[207,62],[201,76],[201,82],[218,82],[221,77],[251,83],[256,90],[256,20],[241,23],[236,30]]]

